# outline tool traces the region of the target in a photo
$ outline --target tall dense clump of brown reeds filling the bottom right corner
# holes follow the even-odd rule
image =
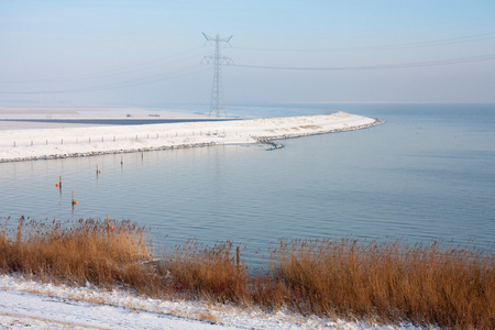
[[[351,239],[280,242],[271,273],[302,312],[494,329],[492,252],[440,248]]]

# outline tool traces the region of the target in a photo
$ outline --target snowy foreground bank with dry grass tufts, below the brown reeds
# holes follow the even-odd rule
[[[141,298],[121,289],[42,284],[0,275],[1,329],[419,329],[304,317],[285,310]]]

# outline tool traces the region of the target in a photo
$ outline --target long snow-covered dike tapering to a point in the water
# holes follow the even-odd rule
[[[3,130],[0,131],[0,162],[256,143],[359,130],[381,123],[378,119],[337,111],[254,120]]]

